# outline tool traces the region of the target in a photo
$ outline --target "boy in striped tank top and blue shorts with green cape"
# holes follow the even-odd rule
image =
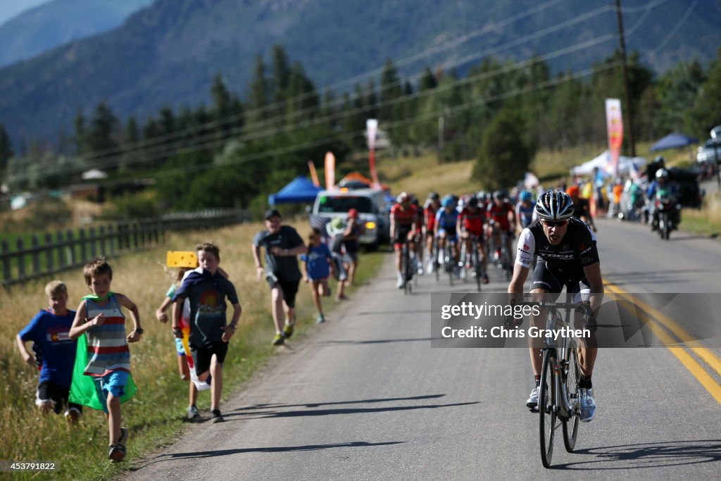
[[[128,343],[140,340],[143,329],[136,304],[127,296],[110,291],[112,268],[105,257],[88,262],[83,275],[92,294],[85,296],[78,306],[70,337],[77,339],[87,333],[89,362],[84,374],[93,377],[99,398],[105,400],[103,410],[110,437],[107,457],[120,462],[125,459],[128,440],[128,429],[120,427],[120,397],[131,372]],[[133,330],[127,336],[121,307],[128,309],[133,320]]]

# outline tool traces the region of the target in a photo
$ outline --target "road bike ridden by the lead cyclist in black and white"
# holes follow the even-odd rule
[[[570,327],[572,312],[581,312],[585,317],[584,324],[588,323],[591,316],[590,306],[585,302],[544,301],[524,302],[523,304],[548,309],[547,330]],[[565,317],[562,317],[561,310],[566,311]],[[580,420],[578,381],[581,370],[576,354],[578,343],[574,337],[561,337],[560,342],[548,337],[544,339],[546,347],[541,348],[543,364],[539,384],[539,403],[536,410],[539,412],[541,463],[544,467],[550,467],[554,435],[559,428],[559,420],[566,451],[571,453],[575,449]]]

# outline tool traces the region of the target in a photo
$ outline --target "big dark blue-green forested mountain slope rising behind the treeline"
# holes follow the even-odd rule
[[[657,73],[715,58],[718,1],[622,3],[627,49]],[[218,73],[244,97],[273,45],[319,89],[341,92],[377,84],[388,59],[411,80],[425,66],[462,74],[491,55],[579,71],[614,53],[617,32],[608,0],[156,0],[110,32],[0,69],[0,123],[14,141],[52,139],[102,100],[143,121],[163,105],[208,102]]]

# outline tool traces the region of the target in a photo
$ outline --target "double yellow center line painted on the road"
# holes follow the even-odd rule
[[[694,358],[689,356],[689,353],[684,350],[684,348],[679,347],[671,347],[671,344],[676,343],[676,340],[671,337],[671,335],[668,335],[667,332],[665,332],[660,325],[665,325],[668,330],[671,330],[674,334],[676,334],[681,340],[689,339],[688,333],[686,333],[685,330],[681,328],[681,326],[676,325],[676,322],[673,322],[672,319],[664,316],[664,314],[661,314],[658,312],[658,310],[653,309],[652,306],[649,306],[647,303],[640,301],[638,299],[630,299],[629,293],[624,291],[619,286],[615,286],[612,283],[604,281],[604,284],[607,288],[609,288],[610,291],[614,292],[614,294],[622,294],[624,297],[628,296],[629,300],[632,300],[634,304],[637,304],[637,306],[640,306],[642,309],[642,312],[640,313],[646,322],[647,325],[651,328],[654,335],[656,335],[661,342],[663,342],[666,345],[666,348],[671,351],[673,356],[676,356],[678,361],[681,361],[681,363],[686,367],[686,369],[691,372],[691,374],[694,375],[694,377],[701,383],[701,385],[706,388],[706,390],[715,398],[715,400],[721,404],[721,386],[715,381],[715,379],[710,376],[706,369],[704,369]],[[652,315],[653,314],[653,315]],[[665,317],[665,322],[662,322],[659,317]],[[668,324],[672,327],[669,327],[666,325],[666,322],[670,321]],[[658,322],[658,323],[657,323]],[[679,332],[684,335],[679,335]],[[707,363],[709,363],[709,366],[712,366],[716,371],[718,371],[721,374],[721,361],[715,356],[714,353],[712,353],[707,348],[691,348],[691,350],[694,351],[694,353],[697,353],[699,357],[704,359]]]

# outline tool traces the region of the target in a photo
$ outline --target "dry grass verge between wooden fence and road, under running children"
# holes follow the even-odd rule
[[[307,224],[296,225],[305,236]],[[260,224],[243,224],[218,231],[172,235],[162,249],[127,255],[110,260],[113,268],[113,291],[121,292],[138,305],[145,333],[131,344],[133,377],[138,385],[136,397],[123,405],[123,425],[130,428],[129,462],[111,464],[107,460],[107,423],[102,412],[86,409],[78,428],[68,430],[62,416],[40,416],[33,401],[37,387],[37,369],[27,366],[18,353],[14,337],[38,309],[47,305],[43,287],[48,280],[33,281],[12,290],[0,288],[3,312],[12,313],[0,325],[0,363],[5,373],[4,393],[0,396],[0,453],[3,459],[44,460],[59,463],[61,472],[54,479],[101,480],[117,477],[129,469],[143,454],[156,451],[183,431],[187,384],[180,381],[174,340],[169,325],[154,316],[172,283],[162,263],[165,250],[187,250],[196,242],[213,239],[221,247],[221,267],[227,270],[238,291],[243,314],[240,327],[231,340],[224,369],[224,393],[228,397],[249,379],[270,356],[283,348],[273,348],[273,321],[270,317],[270,291],[265,282],[255,280],[250,245]],[[363,255],[357,282],[363,284],[383,259],[382,254]],[[71,309],[79,304],[87,287],[80,270],[58,276],[66,282]],[[335,286],[333,286],[335,288]],[[348,293],[353,296],[353,289]],[[338,322],[332,306],[324,299],[327,322]],[[298,328],[292,342],[322,325],[314,324],[315,312],[309,288],[301,283],[298,292]],[[29,345],[28,345],[29,347]],[[198,407],[208,410],[209,392],[201,392]],[[207,416],[208,413],[205,412]],[[37,473],[35,473],[37,474]],[[13,479],[30,479],[32,473],[14,475]]]

